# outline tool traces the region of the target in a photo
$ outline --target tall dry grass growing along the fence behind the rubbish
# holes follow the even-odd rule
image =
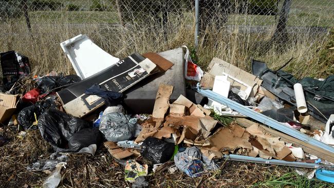
[[[188,16],[184,20],[191,20],[191,15]],[[31,61],[34,73],[44,74],[55,70],[69,74],[74,71],[59,44],[80,33],[87,34],[98,46],[119,58],[133,52],[157,52],[184,44],[193,45],[194,26],[189,23],[172,17],[166,35],[163,28],[157,25],[159,23],[147,21],[145,24],[120,28],[94,23],[75,25],[65,20],[33,23],[33,33],[30,35],[22,18],[17,18],[0,24],[4,31],[1,34],[3,37],[0,37],[0,51],[16,50],[25,54]],[[248,26],[245,23],[240,27]],[[270,42],[274,27],[265,33],[244,33],[241,30],[237,27],[207,30],[199,39],[199,64],[205,67],[213,57],[217,57],[250,71],[250,58],[267,62],[270,68],[275,69],[294,57],[286,70],[297,77],[325,77],[333,73],[331,64],[317,58],[329,37],[333,37],[329,32],[294,32],[290,33],[287,43],[276,44]]]

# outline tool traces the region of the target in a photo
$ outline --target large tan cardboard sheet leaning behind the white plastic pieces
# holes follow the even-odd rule
[[[213,76],[222,76],[223,73],[228,74],[229,76],[240,80],[247,84],[248,86],[252,87],[252,90],[250,92],[250,97],[254,97],[259,86],[261,86],[262,80],[254,76],[253,74],[246,72],[245,70],[242,70],[230,63],[227,63],[223,60],[220,60],[218,58],[213,58],[208,66],[208,70],[210,74]],[[239,90],[247,90],[247,87],[244,84],[241,84],[231,78],[228,78],[228,81],[231,82],[231,86],[235,87]]]

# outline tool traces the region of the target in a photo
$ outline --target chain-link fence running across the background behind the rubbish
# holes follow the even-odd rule
[[[99,46],[120,57],[133,51],[191,45],[196,29],[195,1],[3,0],[0,51],[21,50],[43,59],[36,60],[39,63],[61,63],[66,58],[61,55],[59,43],[80,33],[88,34]],[[290,40],[295,44],[299,40],[301,45],[305,42],[300,41],[306,39],[310,39],[308,43],[316,38],[321,41],[334,23],[333,0],[198,3],[198,52],[208,59],[204,63],[213,56],[234,64],[251,56],[274,61],[269,53],[281,49],[268,47],[269,42],[289,46]],[[57,55],[62,58],[55,60]],[[46,70],[52,69],[52,65],[47,66]]]

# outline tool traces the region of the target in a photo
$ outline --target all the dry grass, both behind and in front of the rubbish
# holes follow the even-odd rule
[[[87,34],[102,49],[120,58],[133,52],[163,51],[183,44],[193,44],[194,28],[187,23],[169,25],[166,36],[162,28],[154,25],[156,23],[119,28],[94,23],[72,25],[66,21],[50,22],[33,24],[33,33],[30,35],[22,19],[10,20],[0,24],[0,51],[16,50],[25,54],[31,61],[33,73],[45,74],[55,70],[70,74],[75,72],[59,43],[80,33]],[[200,37],[197,49],[199,64],[205,67],[213,57],[217,57],[250,71],[251,57],[268,62],[273,69],[294,57],[286,70],[298,77],[325,77],[334,73],[332,59],[326,59],[327,53],[321,56],[324,54],[321,49],[328,46],[328,37],[333,35],[294,33],[290,35],[291,40],[288,43],[277,46],[270,42],[273,29],[269,33],[240,33],[238,29],[233,32],[224,29],[209,30],[205,36]],[[26,167],[38,159],[48,158],[52,153],[50,145],[41,138],[38,130],[28,131],[28,136],[21,139],[17,137],[16,127],[3,128],[0,135],[8,138],[10,142],[0,147],[0,187],[22,187],[24,184],[41,186],[48,175],[43,172],[27,172]],[[151,187],[249,187],[254,183],[258,187],[303,187],[284,184],[289,182],[286,179],[278,184],[272,183],[273,179],[279,179],[291,172],[293,169],[289,167],[224,160],[218,163],[219,171],[208,172],[199,178],[189,178],[177,171],[172,175],[167,172],[150,175],[147,180]],[[123,167],[117,165],[102,146],[95,157],[72,155],[66,170],[62,171],[60,187],[131,186],[124,181],[123,171]],[[293,181],[295,177],[298,176],[291,175],[290,179]]]

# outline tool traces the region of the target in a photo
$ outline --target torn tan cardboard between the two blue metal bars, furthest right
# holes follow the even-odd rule
[[[291,154],[291,150],[285,146],[285,143],[281,141],[279,137],[272,137],[270,134],[265,133],[264,129],[258,124],[254,124],[246,130],[256,140],[256,145],[255,141],[251,142],[252,145],[261,151],[259,154],[266,156],[264,157],[260,155],[260,157],[267,158],[268,156],[271,156],[275,159],[282,160]]]

